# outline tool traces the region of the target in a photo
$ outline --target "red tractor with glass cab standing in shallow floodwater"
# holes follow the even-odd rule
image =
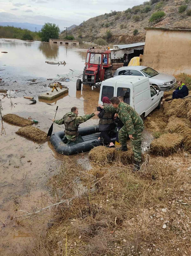
[[[76,81],[76,90],[81,90],[82,84],[95,86],[105,79],[112,77],[111,51],[106,49],[89,48],[87,50],[83,80]],[[99,85],[98,85],[99,86]]]

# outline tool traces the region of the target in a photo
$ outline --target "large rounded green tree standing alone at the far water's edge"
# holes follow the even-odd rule
[[[48,42],[49,38],[58,39],[60,29],[55,23],[45,23],[39,32],[41,41]]]

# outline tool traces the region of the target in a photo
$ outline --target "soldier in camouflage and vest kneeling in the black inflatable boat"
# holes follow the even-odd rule
[[[72,107],[71,112],[66,113],[62,119],[53,119],[52,121],[58,125],[65,125],[65,136],[63,138],[63,142],[71,145],[84,141],[82,136],[78,134],[78,126],[92,118],[94,115],[98,115],[99,113],[99,111],[96,111],[95,113],[89,115],[78,116],[78,108]]]

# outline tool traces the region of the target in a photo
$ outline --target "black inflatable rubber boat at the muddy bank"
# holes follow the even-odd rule
[[[65,135],[63,131],[54,133],[51,136],[51,143],[53,144],[56,152],[61,153],[63,155],[73,155],[83,152],[88,152],[94,147],[103,145],[101,140],[98,140],[100,136],[99,126],[88,126],[78,129],[78,133],[82,136],[84,142],[77,143],[74,145],[67,145],[65,144],[62,139]],[[111,139],[112,142],[115,144],[115,138]]]

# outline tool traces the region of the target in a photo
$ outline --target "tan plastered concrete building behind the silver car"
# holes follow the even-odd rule
[[[142,66],[158,72],[191,75],[191,30],[146,27]]]

